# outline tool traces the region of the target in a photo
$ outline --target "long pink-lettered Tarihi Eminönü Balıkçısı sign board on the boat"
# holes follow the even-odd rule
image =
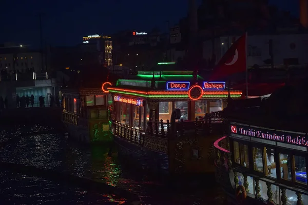
[[[290,133],[278,130],[267,130],[263,128],[240,126],[240,125],[230,125],[230,132],[231,134],[256,137],[271,141],[283,142],[290,145],[308,147],[308,136],[299,135],[296,133]]]

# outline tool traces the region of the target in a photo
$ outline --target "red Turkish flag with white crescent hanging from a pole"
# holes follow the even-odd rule
[[[221,80],[235,73],[245,72],[246,36],[242,35],[222,56],[208,81]]]

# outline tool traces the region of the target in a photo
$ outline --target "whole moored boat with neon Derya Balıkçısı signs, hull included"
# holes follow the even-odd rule
[[[224,132],[220,111],[228,94],[242,95],[192,71],[139,71],[108,91],[119,154],[152,172],[171,174],[214,173],[209,153]]]

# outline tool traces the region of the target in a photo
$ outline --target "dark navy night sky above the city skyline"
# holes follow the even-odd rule
[[[280,9],[298,16],[298,0],[269,2],[279,3]],[[172,26],[187,14],[187,0],[2,0],[1,8],[0,43],[40,45],[42,13],[44,41],[52,46],[69,46],[96,33],[125,29],[148,32],[155,26],[166,31],[166,20]]]

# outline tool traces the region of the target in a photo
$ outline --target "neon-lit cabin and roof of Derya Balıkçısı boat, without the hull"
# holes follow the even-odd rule
[[[225,82],[207,82],[192,71],[139,71],[133,79],[119,79],[108,86],[113,99],[113,113],[123,125],[146,128],[150,119],[170,119],[180,109],[181,119],[194,121],[206,113],[226,107]],[[240,98],[241,91],[231,90],[230,97]]]

